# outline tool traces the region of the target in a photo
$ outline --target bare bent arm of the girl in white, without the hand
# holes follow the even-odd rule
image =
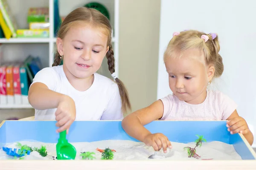
[[[29,88],[29,103],[37,110],[57,108],[59,102],[68,98],[64,94],[49,90],[47,85],[41,82],[35,82]]]

